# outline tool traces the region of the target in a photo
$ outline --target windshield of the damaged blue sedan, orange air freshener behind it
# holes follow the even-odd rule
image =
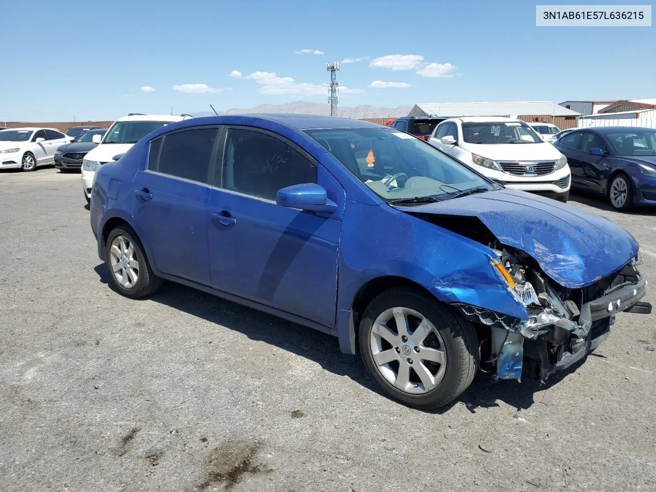
[[[375,194],[398,199],[449,199],[496,186],[407,133],[388,128],[306,130]]]

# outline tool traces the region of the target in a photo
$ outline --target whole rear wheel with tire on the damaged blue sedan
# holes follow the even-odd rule
[[[105,263],[117,291],[136,299],[151,295],[161,287],[162,279],[153,273],[144,247],[130,226],[124,224],[113,228],[106,244]],[[122,260],[123,257],[126,259]]]

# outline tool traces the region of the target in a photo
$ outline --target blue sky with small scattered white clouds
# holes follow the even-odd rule
[[[342,106],[656,97],[654,27],[538,28],[525,0],[328,5],[3,1],[0,119],[327,102],[347,58]]]

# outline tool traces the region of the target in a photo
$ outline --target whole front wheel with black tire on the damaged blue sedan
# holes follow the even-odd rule
[[[400,315],[409,337],[396,325]],[[358,341],[362,361],[382,391],[418,409],[441,407],[458,398],[474,379],[479,362],[474,325],[449,306],[405,287],[371,301]]]

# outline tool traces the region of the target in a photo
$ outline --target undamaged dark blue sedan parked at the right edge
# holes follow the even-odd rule
[[[656,205],[656,130],[579,129],[554,146],[567,157],[572,188],[605,195],[617,210]]]

